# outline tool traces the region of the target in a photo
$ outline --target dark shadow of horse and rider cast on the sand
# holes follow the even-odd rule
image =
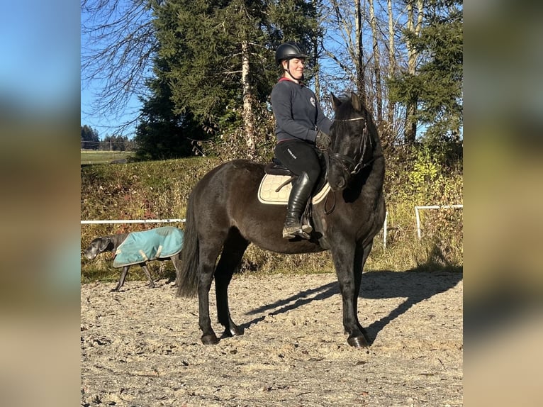
[[[379,332],[392,320],[398,318],[412,306],[430,299],[436,294],[452,289],[462,279],[462,272],[423,272],[420,269],[412,269],[405,272],[376,271],[365,272],[362,275],[362,284],[359,298],[362,299],[386,299],[405,298],[405,301],[393,309],[388,316],[374,321],[364,327],[369,343],[374,342]],[[266,306],[261,306],[249,311],[247,315],[264,313],[241,325],[241,328],[249,328],[264,320],[267,316],[273,316],[305,306],[311,301],[328,299],[330,296],[340,295],[339,284],[333,281],[315,289],[300,291],[287,299],[281,299]],[[359,301],[360,303],[360,301]],[[364,308],[359,307],[359,314],[364,313]]]

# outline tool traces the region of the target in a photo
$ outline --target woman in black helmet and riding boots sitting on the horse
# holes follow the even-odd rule
[[[271,91],[277,138],[274,152],[281,164],[298,176],[286,206],[286,239],[296,235],[308,238],[307,233],[313,230],[310,225],[301,225],[301,214],[320,174],[317,149],[330,146],[332,122],[324,115],[315,93],[302,83],[306,57],[297,43],[281,44],[275,52],[283,74]]]

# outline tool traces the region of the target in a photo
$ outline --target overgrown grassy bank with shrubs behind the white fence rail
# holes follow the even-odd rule
[[[366,269],[460,269],[463,237],[461,211],[438,211],[422,217],[425,221],[422,241],[415,231],[414,205],[436,204],[437,196],[461,204],[461,173],[425,166],[427,156],[391,160],[385,184],[388,236],[383,247],[383,232],[376,236]],[[408,162],[405,165],[405,162]],[[430,160],[431,162],[431,160]],[[188,196],[199,179],[220,164],[213,157],[179,160],[129,162],[127,164],[89,165],[81,169],[82,220],[184,218]],[[416,184],[419,183],[419,184]],[[416,191],[416,193],[414,192]],[[432,193],[430,193],[433,191]],[[425,199],[425,196],[428,196]],[[124,223],[82,225],[81,246],[102,235],[146,230],[164,224]],[[174,224],[176,225],[176,224]],[[184,228],[183,223],[177,225]],[[111,267],[113,255],[99,255],[93,262],[82,258],[82,281],[118,279]],[[162,272],[172,275],[170,262],[161,264]],[[242,272],[333,272],[328,252],[310,255],[279,255],[250,245],[242,262]],[[129,277],[145,276],[134,267]]]

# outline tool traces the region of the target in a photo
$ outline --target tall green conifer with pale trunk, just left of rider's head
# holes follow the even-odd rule
[[[156,15],[158,55],[164,65],[155,73],[170,87],[173,113],[190,113],[223,137],[237,135],[241,141],[226,141],[245,144],[251,156],[261,122],[258,112],[267,110],[279,77],[275,49],[284,40],[297,40],[310,50],[312,4],[172,0]]]

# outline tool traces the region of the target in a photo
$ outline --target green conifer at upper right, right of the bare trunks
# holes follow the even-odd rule
[[[390,99],[416,104],[415,119],[432,140],[456,140],[462,126],[463,12],[459,0],[432,0],[420,35],[406,33],[420,54],[418,72],[391,79]]]

